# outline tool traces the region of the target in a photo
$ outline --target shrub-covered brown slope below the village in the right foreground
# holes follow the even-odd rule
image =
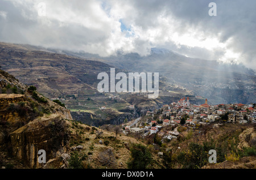
[[[179,137],[167,143],[175,168],[256,168],[255,125],[210,123],[196,131],[179,131]],[[217,164],[208,162],[210,149],[216,150]]]

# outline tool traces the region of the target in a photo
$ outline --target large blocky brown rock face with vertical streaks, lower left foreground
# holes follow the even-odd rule
[[[23,164],[31,168],[42,168],[38,162],[38,151],[46,151],[46,161],[67,151],[65,145],[69,140],[67,125],[61,117],[35,119],[10,134],[12,153]]]

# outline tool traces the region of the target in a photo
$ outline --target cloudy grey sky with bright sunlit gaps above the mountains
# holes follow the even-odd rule
[[[0,41],[102,57],[159,47],[256,70],[255,7],[255,0],[0,0]]]

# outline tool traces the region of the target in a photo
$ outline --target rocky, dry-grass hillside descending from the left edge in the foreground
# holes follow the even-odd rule
[[[78,156],[82,168],[127,168],[132,145],[145,145],[135,138],[73,121],[68,109],[5,71],[0,70],[0,80],[1,167],[76,168],[72,162]],[[39,149],[46,151],[46,164],[38,162]],[[152,160],[150,168],[162,167],[155,155]]]

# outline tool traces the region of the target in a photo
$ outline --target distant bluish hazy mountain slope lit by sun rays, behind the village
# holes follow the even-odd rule
[[[132,72],[159,72],[169,83],[192,90],[196,96],[207,97],[212,104],[250,104],[256,100],[255,71],[242,64],[189,58],[164,48],[149,48],[148,51],[150,54],[146,56],[118,52],[109,57],[83,52],[62,53],[102,61]]]

